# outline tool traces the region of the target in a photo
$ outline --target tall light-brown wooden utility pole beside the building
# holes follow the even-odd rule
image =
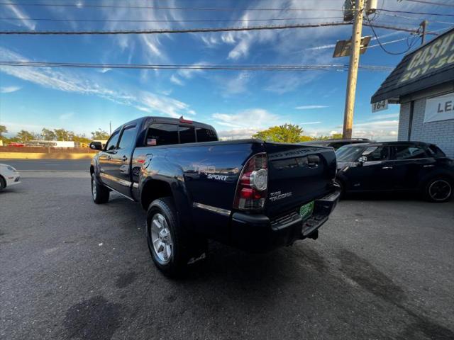
[[[362,12],[365,0],[355,0],[353,18],[352,43],[350,50],[350,65],[348,67],[347,94],[345,96],[345,111],[343,117],[343,138],[352,137],[353,111],[355,109],[356,81],[360,64],[360,48],[362,33]]]

